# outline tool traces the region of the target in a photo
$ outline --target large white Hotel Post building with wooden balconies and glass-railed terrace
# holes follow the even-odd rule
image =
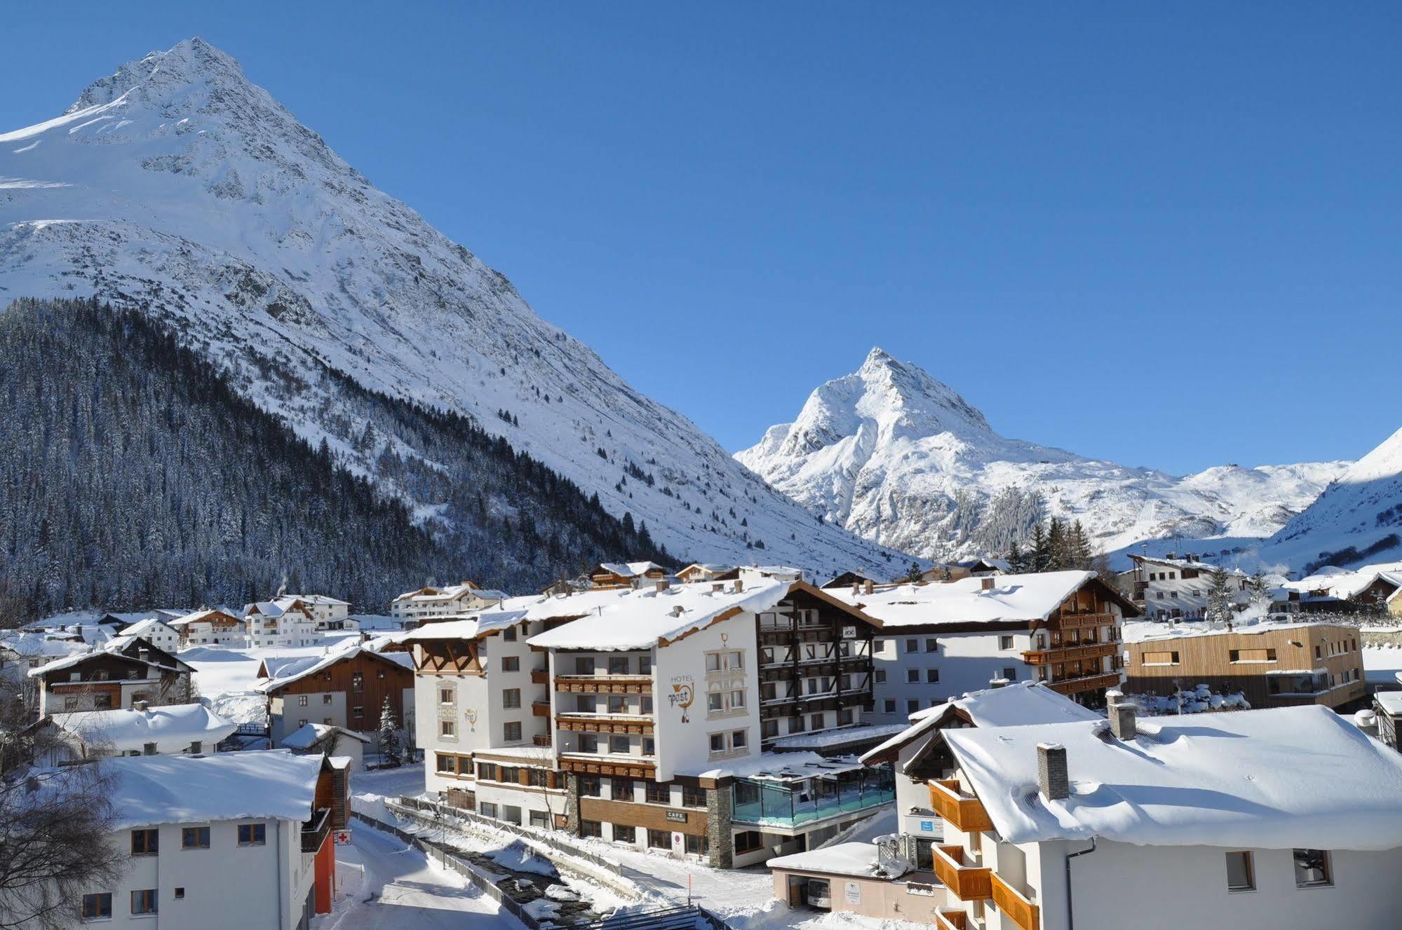
[[[875,626],[801,581],[660,578],[421,627],[426,787],[721,867],[816,845],[892,803],[889,770],[764,747],[861,730]]]

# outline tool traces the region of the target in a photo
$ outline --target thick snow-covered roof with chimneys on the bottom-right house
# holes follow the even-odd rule
[[[1326,707],[1138,721],[946,730],[963,776],[1011,843],[1102,839],[1141,846],[1402,846],[1402,754]],[[1037,793],[1037,744],[1066,748],[1071,796]]]

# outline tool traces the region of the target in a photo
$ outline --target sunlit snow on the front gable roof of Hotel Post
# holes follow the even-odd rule
[[[665,591],[604,588],[545,599],[533,598],[537,602],[526,609],[527,619],[545,619],[543,613],[558,616],[558,609],[571,611],[569,615],[579,615],[580,619],[533,636],[529,641],[543,648],[604,651],[665,646],[736,613],[768,611],[792,587],[788,581],[765,581],[740,591],[732,585],[716,591],[711,583],[700,583],[673,584]],[[513,598],[516,599],[519,598]]]

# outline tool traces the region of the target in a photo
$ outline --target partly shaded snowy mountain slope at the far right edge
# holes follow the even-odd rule
[[[1350,465],[1260,546],[1266,566],[1314,570],[1402,557],[1402,430]]]

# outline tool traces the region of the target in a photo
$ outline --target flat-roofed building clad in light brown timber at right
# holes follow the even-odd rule
[[[1301,615],[1294,615],[1295,618]],[[1367,698],[1359,627],[1343,622],[1138,622],[1124,626],[1131,695],[1172,695],[1206,683],[1241,692],[1252,707],[1322,705],[1340,709]]]

